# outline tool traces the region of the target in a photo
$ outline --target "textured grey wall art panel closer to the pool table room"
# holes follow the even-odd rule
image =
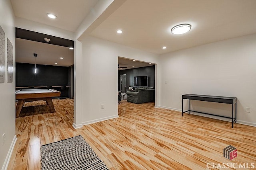
[[[13,75],[13,47],[11,41],[7,38],[7,82],[12,83]]]

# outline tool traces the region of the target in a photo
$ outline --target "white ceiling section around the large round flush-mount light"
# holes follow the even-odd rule
[[[255,18],[256,0],[127,0],[92,35],[163,54],[256,33]],[[181,23],[191,24],[191,30],[170,33]]]

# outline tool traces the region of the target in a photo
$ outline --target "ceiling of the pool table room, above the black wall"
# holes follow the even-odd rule
[[[35,63],[36,64],[71,66],[74,64],[74,50],[68,47],[40,43],[26,39],[16,38],[16,62],[17,63]],[[63,57],[63,59],[60,59]],[[58,63],[58,64],[54,64]]]

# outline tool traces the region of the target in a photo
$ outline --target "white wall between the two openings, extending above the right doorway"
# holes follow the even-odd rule
[[[82,102],[76,103],[76,116],[82,114],[83,125],[118,116],[118,56],[158,63],[158,55],[95,37],[82,40]],[[78,78],[78,77],[77,77]],[[77,82],[78,83],[78,82]],[[104,109],[101,109],[104,104]],[[78,116],[79,117],[79,116]]]

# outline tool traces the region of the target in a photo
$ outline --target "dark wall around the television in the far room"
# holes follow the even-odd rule
[[[120,75],[126,74],[126,89],[129,89],[129,86],[134,87],[134,76],[148,76],[148,87],[155,88],[155,65],[132,68],[127,70],[118,71],[118,91],[120,90]]]

